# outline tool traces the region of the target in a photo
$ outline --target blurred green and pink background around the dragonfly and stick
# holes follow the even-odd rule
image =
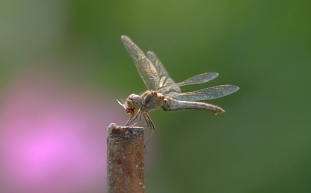
[[[155,110],[146,192],[310,192],[310,1],[1,1],[0,192],[105,192],[115,99],[146,87],[121,42],[226,113]]]

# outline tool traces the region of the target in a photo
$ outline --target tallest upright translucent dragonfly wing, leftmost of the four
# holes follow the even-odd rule
[[[146,87],[153,91],[157,90],[156,88],[159,87],[159,76],[154,65],[130,38],[123,35],[121,39]]]

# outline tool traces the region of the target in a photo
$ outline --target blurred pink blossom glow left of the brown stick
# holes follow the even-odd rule
[[[106,128],[127,120],[115,99],[33,74],[4,90],[0,192],[105,192]]]

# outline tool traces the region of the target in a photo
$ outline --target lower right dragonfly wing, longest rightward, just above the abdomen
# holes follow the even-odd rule
[[[173,98],[179,101],[202,101],[220,98],[229,95],[239,90],[239,87],[234,85],[219,85],[210,88],[204,88],[193,92],[177,93],[165,97]]]

